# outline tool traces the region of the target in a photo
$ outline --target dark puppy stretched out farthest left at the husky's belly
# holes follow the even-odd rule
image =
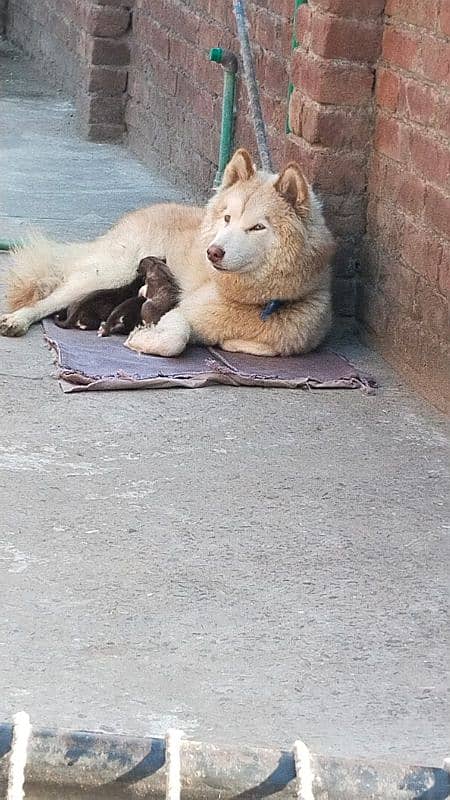
[[[124,300],[136,297],[144,283],[141,274],[126,286],[118,289],[100,289],[91,292],[82,300],[72,303],[66,312],[55,317],[55,324],[60,328],[81,328],[84,331],[98,330],[100,323],[108,319],[112,311]],[[65,315],[65,316],[64,316]]]

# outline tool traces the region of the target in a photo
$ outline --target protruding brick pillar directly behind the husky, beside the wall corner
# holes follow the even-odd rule
[[[291,62],[292,134],[286,157],[299,161],[324,199],[336,236],[335,307],[353,317],[355,271],[366,226],[373,84],[384,0],[310,0],[300,6]]]

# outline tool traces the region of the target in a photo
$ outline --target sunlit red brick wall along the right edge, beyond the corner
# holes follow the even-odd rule
[[[448,376],[449,36],[447,0],[387,0],[359,303],[372,339],[435,398]]]

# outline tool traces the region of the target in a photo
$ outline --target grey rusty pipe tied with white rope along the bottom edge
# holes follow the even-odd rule
[[[0,795],[6,788],[12,726],[0,726]],[[165,742],[104,733],[34,728],[28,747],[27,800],[164,800]],[[311,754],[314,800],[445,800],[450,775],[413,767]],[[181,746],[183,800],[296,800],[291,752]]]

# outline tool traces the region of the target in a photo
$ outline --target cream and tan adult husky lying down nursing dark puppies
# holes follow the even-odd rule
[[[304,353],[330,327],[333,251],[298,164],[257,172],[241,149],[205,208],[154,205],[93,242],[35,239],[18,250],[0,333],[21,336],[91,291],[130,283],[153,253],[166,259],[180,299],[157,325],[133,331],[129,347],[176,356],[195,341],[255,355]]]

